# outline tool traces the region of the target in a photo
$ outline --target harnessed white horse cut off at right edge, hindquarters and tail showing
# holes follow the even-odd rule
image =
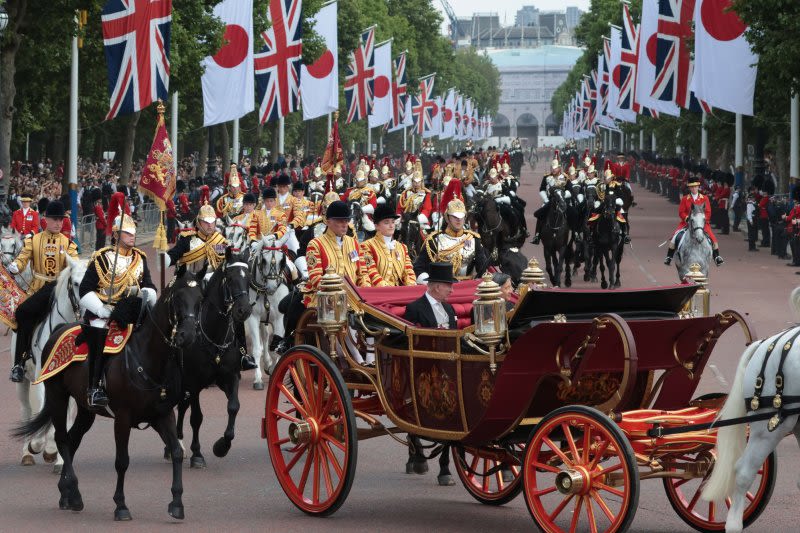
[[[800,316],[800,287],[792,291],[790,304],[795,317]],[[719,413],[720,420],[743,417],[750,413],[772,413],[773,396],[776,393],[776,375],[782,351],[791,341],[786,360],[783,364],[783,391],[781,396],[795,398],[800,395],[800,326],[787,329],[762,341],[756,341],[744,351],[736,378],[731,386],[731,393]],[[770,346],[773,350],[764,369],[763,389],[759,394],[759,409],[750,411],[745,399],[751,398],[755,392],[756,379],[759,377],[764,358]],[[798,407],[797,400],[783,402],[785,408]],[[800,444],[800,415],[783,416],[777,427],[770,431],[769,420],[750,422],[750,438],[747,438],[747,426],[738,424],[720,428],[717,432],[717,459],[714,470],[703,489],[703,499],[719,502],[731,497],[731,507],[725,522],[728,533],[740,532],[743,528],[743,513],[748,501],[747,491],[753,480],[778,443],[793,433]],[[800,480],[797,482],[800,488]]]

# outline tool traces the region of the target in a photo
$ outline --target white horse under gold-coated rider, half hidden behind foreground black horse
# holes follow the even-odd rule
[[[80,296],[78,289],[84,274],[86,274],[86,261],[74,260],[67,256],[67,267],[61,271],[53,291],[53,307],[45,320],[36,326],[31,342],[33,357],[25,363],[25,377],[22,383],[17,383],[17,398],[22,410],[22,420],[30,420],[41,410],[44,405],[44,384],[34,385],[33,382],[42,372],[42,350],[50,338],[50,334],[58,326],[67,322],[75,322],[80,318]],[[17,336],[11,339],[11,354],[13,357],[17,343]],[[70,408],[70,417],[75,413],[74,406]],[[58,454],[55,442],[55,430],[52,426],[47,430],[44,438],[38,437],[22,443],[22,464],[25,466],[35,464],[34,454],[42,453],[46,463],[52,463],[53,472],[60,473],[63,460]]]

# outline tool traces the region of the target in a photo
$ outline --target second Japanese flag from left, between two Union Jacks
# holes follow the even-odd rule
[[[327,115],[339,108],[339,59],[333,2],[314,15],[314,31],[325,41],[325,52],[311,65],[300,67],[300,103],[303,120]]]

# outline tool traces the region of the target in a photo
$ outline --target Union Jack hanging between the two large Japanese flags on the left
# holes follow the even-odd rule
[[[253,55],[261,123],[297,111],[300,59],[303,55],[302,0],[270,0],[270,28],[261,34],[264,47]]]

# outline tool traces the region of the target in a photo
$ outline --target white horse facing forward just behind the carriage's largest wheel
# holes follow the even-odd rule
[[[297,278],[297,268],[286,255],[287,243],[293,236],[292,230],[278,240],[273,235],[267,235],[254,242],[250,249],[252,312],[244,327],[250,339],[251,353],[258,363],[253,377],[253,388],[256,390],[264,389],[263,371],[271,374],[278,362],[278,356],[270,353],[273,337],[286,334],[283,313],[278,306],[289,295],[289,283]]]

